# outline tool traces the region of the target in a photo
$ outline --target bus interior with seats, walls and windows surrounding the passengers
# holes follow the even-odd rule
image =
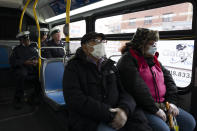
[[[1,131],[69,131],[62,77],[66,61],[49,59],[41,64],[41,104],[13,109],[17,81],[12,76],[9,56],[19,45],[21,13],[28,0],[0,0],[0,130]],[[36,1],[36,0],[35,0]],[[34,0],[25,11],[22,29],[30,31],[37,44]],[[67,58],[80,47],[88,32],[106,36],[107,57],[118,61],[120,48],[130,41],[137,27],[159,31],[159,60],[170,70],[178,87],[178,106],[197,120],[197,1],[196,0],[71,0],[70,41]],[[61,29],[66,17],[64,0],[38,0],[36,13],[41,28]],[[51,77],[50,77],[51,76]],[[31,92],[27,89],[26,94]]]

